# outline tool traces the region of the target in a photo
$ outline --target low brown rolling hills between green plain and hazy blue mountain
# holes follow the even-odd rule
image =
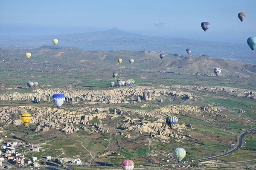
[[[9,51],[9,52],[8,52]],[[207,55],[179,55],[166,54],[164,59],[160,59],[160,52],[155,51],[84,51],[79,48],[61,46],[42,46],[32,49],[30,59],[40,61],[45,64],[55,63],[58,65],[76,64],[84,67],[110,67],[110,68],[129,68],[133,70],[153,70],[161,72],[172,72],[177,74],[205,74],[213,75],[215,67],[221,68],[222,76],[232,77],[256,77],[256,65],[232,60],[209,57]],[[15,59],[23,60],[24,51],[0,49],[1,59],[8,61]],[[122,58],[122,63],[118,64],[117,59]],[[134,59],[131,65],[129,59]]]

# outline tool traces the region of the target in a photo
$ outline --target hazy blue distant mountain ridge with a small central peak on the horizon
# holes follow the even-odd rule
[[[207,34],[207,33],[206,33]],[[112,28],[108,31],[89,33],[64,34],[54,36],[29,36],[10,38],[0,36],[0,45],[52,45],[52,39],[59,40],[58,45],[79,47],[85,50],[130,50],[130,51],[165,51],[168,53],[186,54],[186,48],[191,48],[192,55],[207,54],[224,59],[244,60],[256,63],[246,43],[210,42],[182,38],[164,38],[133,34]]]

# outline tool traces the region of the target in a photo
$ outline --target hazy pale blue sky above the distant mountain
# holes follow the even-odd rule
[[[256,36],[256,0],[0,0],[0,34],[132,33],[239,42]],[[237,14],[247,17],[240,22]],[[211,24],[207,33],[201,22]]]

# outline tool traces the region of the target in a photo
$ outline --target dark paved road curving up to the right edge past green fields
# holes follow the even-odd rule
[[[235,148],[233,148],[232,150],[229,150],[228,152],[226,153],[223,153],[221,155],[218,155],[218,156],[212,156],[212,157],[209,157],[209,158],[204,158],[204,159],[198,159],[198,160],[193,160],[193,161],[207,161],[207,160],[210,160],[210,159],[216,159],[216,158],[220,158],[222,156],[227,156],[229,155],[230,153],[233,153],[235,152],[238,148],[242,147],[243,146],[243,138],[244,138],[244,135],[246,135],[247,133],[253,131],[253,130],[256,130],[256,127],[250,129],[250,130],[247,130],[243,133],[241,133],[239,136],[238,136],[238,139],[237,139],[237,145]]]

